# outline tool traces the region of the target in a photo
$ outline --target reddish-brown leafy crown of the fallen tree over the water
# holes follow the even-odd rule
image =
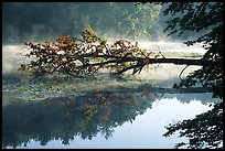
[[[46,73],[67,75],[93,75],[97,71],[108,68],[113,74],[121,74],[133,69],[140,72],[148,65],[150,57],[157,58],[160,53],[147,53],[138,46],[138,42],[119,40],[108,44],[99,39],[90,26],[82,32],[82,40],[58,36],[56,42],[25,43],[30,52],[25,56],[30,63],[23,63],[19,71],[26,71],[36,76]]]

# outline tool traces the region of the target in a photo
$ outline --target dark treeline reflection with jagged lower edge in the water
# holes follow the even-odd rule
[[[68,144],[74,137],[109,138],[114,128],[133,121],[151,106],[141,94],[92,94],[42,101],[14,101],[2,107],[2,148],[26,145],[31,139]]]

